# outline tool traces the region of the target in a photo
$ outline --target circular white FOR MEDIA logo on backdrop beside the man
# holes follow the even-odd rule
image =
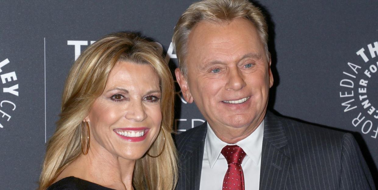
[[[340,80],[339,92],[344,112],[353,127],[364,135],[377,138],[378,134],[378,41],[356,51],[356,63],[348,62]]]

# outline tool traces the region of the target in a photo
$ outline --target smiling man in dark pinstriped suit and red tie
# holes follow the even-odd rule
[[[266,111],[267,38],[246,0],[197,2],[178,21],[175,75],[207,122],[176,136],[177,190],[375,189],[352,135]]]

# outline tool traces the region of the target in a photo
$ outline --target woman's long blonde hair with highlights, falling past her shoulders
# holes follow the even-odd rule
[[[133,186],[138,190],[173,190],[177,182],[177,152],[172,136],[174,83],[170,70],[159,51],[149,41],[133,33],[106,35],[91,44],[75,61],[65,82],[60,119],[50,138],[39,190],[45,190],[57,176],[81,155],[82,121],[104,88],[110,70],[118,61],[150,64],[160,79],[161,130],[165,150],[157,158],[143,156],[136,160]],[[163,132],[148,153],[158,155],[164,146]]]

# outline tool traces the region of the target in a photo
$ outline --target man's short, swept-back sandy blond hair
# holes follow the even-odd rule
[[[193,3],[178,20],[172,42],[181,73],[187,74],[185,55],[187,54],[187,41],[192,28],[200,21],[222,22],[232,21],[235,18],[245,18],[257,28],[260,40],[264,44],[265,54],[270,61],[268,50],[268,26],[264,15],[259,8],[247,0],[204,0]]]

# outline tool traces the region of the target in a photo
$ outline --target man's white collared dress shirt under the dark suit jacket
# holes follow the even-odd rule
[[[220,153],[226,145],[242,147],[247,154],[242,162],[245,190],[259,190],[262,139],[264,121],[247,138],[236,144],[221,141],[208,123],[203,152],[200,190],[222,190],[223,178],[228,169],[225,157]]]

